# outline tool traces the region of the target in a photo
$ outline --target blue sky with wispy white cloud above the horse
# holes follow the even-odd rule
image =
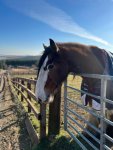
[[[113,0],[0,0],[0,54],[39,55],[50,38],[113,52]]]

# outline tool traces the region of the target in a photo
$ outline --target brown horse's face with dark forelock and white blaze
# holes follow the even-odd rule
[[[53,49],[55,46],[52,47],[50,43],[51,53],[45,58],[38,75],[36,97],[42,103],[53,101],[54,94],[68,74],[68,65],[66,61],[62,60],[58,51]]]

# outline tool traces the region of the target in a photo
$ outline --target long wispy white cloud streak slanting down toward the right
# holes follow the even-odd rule
[[[44,0],[3,0],[3,2],[31,18],[50,25],[56,30],[111,46],[107,41],[92,35],[78,25],[63,10],[50,5]]]

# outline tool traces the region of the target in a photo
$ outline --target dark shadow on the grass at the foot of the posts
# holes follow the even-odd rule
[[[94,150],[87,142],[85,142],[80,136],[77,139],[88,149]],[[99,145],[95,141],[90,140],[97,148]],[[56,136],[52,140],[48,137],[43,139],[37,147],[33,150],[82,150],[82,148],[74,141],[66,138],[65,136]]]

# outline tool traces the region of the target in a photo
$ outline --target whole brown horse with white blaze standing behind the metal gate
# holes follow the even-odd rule
[[[112,74],[110,70],[111,61],[108,53],[96,46],[89,46],[80,43],[56,43],[50,39],[50,45],[44,45],[44,52],[38,65],[38,79],[36,83],[36,97],[39,103],[50,103],[54,100],[54,95],[69,73],[76,74]],[[107,60],[107,61],[106,61]],[[100,87],[98,79],[82,77],[83,84],[89,86],[88,92],[100,95],[100,89],[94,92],[92,87]],[[113,100],[113,82],[108,81],[106,97]],[[83,88],[81,86],[81,88]],[[88,97],[88,102],[92,97]],[[96,100],[98,103],[99,100]],[[86,103],[86,105],[88,104]],[[108,118],[113,121],[113,106],[106,105]],[[111,130],[112,128],[112,130]],[[106,131],[110,131],[113,136],[113,127],[108,126]],[[111,136],[111,134],[109,133]]]

